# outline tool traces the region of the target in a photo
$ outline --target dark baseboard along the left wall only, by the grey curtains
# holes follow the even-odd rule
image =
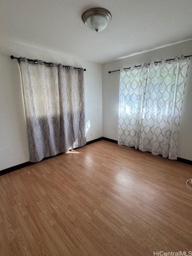
[[[85,146],[88,145],[88,144],[97,142],[97,141],[99,141],[99,140],[102,140],[102,137],[100,137],[100,138],[98,138],[98,139],[95,139],[95,140],[88,141],[88,142],[85,144]],[[58,156],[58,155],[61,155],[61,154],[63,154],[63,153],[59,153],[59,154],[57,154],[57,155],[55,155],[55,156]],[[41,161],[44,161],[44,160],[46,160],[46,159],[49,159],[49,158],[52,158],[52,157],[55,157],[55,156],[45,157],[45,158],[43,158]],[[41,161],[40,161],[40,162],[41,162]],[[39,163],[39,162],[38,162],[38,163]],[[1,175],[4,175],[4,174],[6,174],[6,173],[9,173],[9,172],[13,172],[13,171],[16,171],[16,170],[18,170],[18,169],[27,167],[27,166],[32,165],[32,164],[36,164],[36,162],[35,162],[35,163],[33,163],[33,162],[25,162],[25,163],[22,163],[22,164],[18,164],[18,165],[15,165],[15,166],[11,166],[11,167],[9,167],[9,168],[6,168],[6,169],[4,169],[4,170],[1,170],[1,171],[0,171],[0,176],[1,176]]]

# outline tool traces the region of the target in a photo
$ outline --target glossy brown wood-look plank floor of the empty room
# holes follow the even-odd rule
[[[1,255],[190,251],[192,167],[98,141],[0,176]]]

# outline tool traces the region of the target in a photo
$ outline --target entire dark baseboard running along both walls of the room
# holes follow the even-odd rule
[[[88,141],[88,142],[85,144],[85,146],[86,146],[86,145],[89,145],[89,144],[91,144],[91,143],[100,141],[100,140],[106,140],[106,141],[110,141],[110,142],[113,142],[113,143],[115,143],[115,144],[118,144],[117,140],[109,139],[109,138],[106,138],[106,137],[100,137],[100,138],[97,138],[97,139],[95,139],[95,140]],[[138,149],[138,150],[139,150],[139,149]],[[148,152],[148,153],[150,153],[150,152]],[[57,154],[57,156],[58,156],[58,155],[61,155],[61,154],[63,154],[63,153],[59,153],[59,154]],[[41,161],[44,161],[44,160],[49,159],[49,158],[52,158],[52,157],[55,157],[55,156],[45,157],[45,158],[43,158]],[[41,161],[40,161],[40,162],[41,162]],[[191,161],[191,160],[184,159],[184,158],[181,158],[181,157],[178,157],[176,161],[181,162],[181,163],[184,163],[184,164],[192,165],[192,161]],[[33,162],[25,162],[25,163],[22,163],[22,164],[18,164],[18,165],[9,167],[9,168],[7,168],[7,169],[4,169],[4,170],[0,171],[0,176],[1,176],[1,175],[4,175],[4,174],[6,174],[6,173],[9,173],[9,172],[13,172],[13,171],[16,171],[16,170],[18,170],[18,169],[27,167],[27,166],[32,165],[32,164],[36,164],[36,163],[33,163]]]

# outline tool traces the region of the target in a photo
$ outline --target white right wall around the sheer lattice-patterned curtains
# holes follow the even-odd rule
[[[171,58],[176,55],[192,55],[192,41],[172,45],[132,57],[103,64],[103,136],[117,140],[119,74],[108,71],[149,63],[153,60]],[[184,102],[178,134],[178,157],[192,160],[192,61],[185,88]]]

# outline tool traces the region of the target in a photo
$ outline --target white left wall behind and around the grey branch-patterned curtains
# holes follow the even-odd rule
[[[0,41],[0,170],[29,161],[20,71],[10,55],[86,68],[87,141],[102,136],[102,65],[59,52]]]

